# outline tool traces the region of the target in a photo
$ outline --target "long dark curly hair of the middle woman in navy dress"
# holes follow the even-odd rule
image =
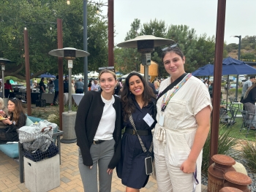
[[[148,82],[137,72],[131,72],[127,78],[125,79],[123,90],[121,91],[121,102],[123,105],[123,116],[124,120],[127,121],[129,119],[129,115],[132,114],[132,112],[135,112],[135,104],[134,104],[134,94],[129,91],[129,79],[132,76],[138,76],[143,82],[144,91],[142,93],[143,101],[146,101],[146,103],[150,103],[152,98],[156,98],[156,96],[153,93],[153,90],[151,87],[149,87]]]

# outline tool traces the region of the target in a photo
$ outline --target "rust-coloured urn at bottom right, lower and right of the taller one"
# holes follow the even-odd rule
[[[249,176],[241,172],[227,172],[224,175],[225,187],[238,188],[241,191],[249,192],[248,185],[252,183]]]

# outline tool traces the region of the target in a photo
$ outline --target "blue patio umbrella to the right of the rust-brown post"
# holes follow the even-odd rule
[[[256,69],[244,61],[228,57],[222,61],[222,75],[225,74],[256,74]]]

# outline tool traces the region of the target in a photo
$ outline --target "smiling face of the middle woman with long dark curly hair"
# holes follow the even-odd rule
[[[132,92],[135,96],[142,95],[144,91],[143,82],[140,80],[140,77],[133,75],[129,78],[129,91]]]

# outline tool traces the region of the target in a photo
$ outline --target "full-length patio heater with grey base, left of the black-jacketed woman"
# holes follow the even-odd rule
[[[67,59],[67,67],[69,69],[69,111],[62,113],[62,131],[63,137],[61,142],[63,143],[72,143],[76,142],[75,135],[75,117],[77,112],[72,112],[72,85],[71,85],[71,77],[72,77],[72,68],[73,68],[73,60],[78,57],[86,57],[90,55],[90,53],[84,50],[77,50],[72,47],[65,47],[63,49],[51,50],[49,52],[50,55],[56,57],[64,57]]]

